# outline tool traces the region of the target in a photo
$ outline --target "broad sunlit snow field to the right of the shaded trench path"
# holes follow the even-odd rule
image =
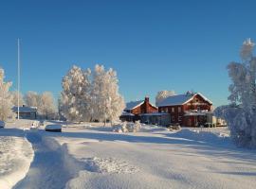
[[[236,148],[227,135],[217,134],[218,131],[77,131],[66,128],[62,137],[55,137],[60,143],[65,142],[68,153],[82,163],[79,174],[67,182],[66,188],[256,186],[255,152]],[[119,171],[125,167],[134,170]],[[247,185],[243,184],[246,180]]]

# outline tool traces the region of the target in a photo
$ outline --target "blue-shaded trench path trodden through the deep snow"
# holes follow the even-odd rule
[[[26,178],[14,188],[61,189],[78,174],[81,166],[67,153],[65,145],[60,146],[40,132],[27,133],[27,140],[35,151],[34,160]]]

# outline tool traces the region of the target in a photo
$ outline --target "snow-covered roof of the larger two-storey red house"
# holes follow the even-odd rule
[[[177,95],[169,96],[169,97],[163,99],[162,101],[160,101],[158,103],[158,107],[183,105],[183,104],[186,104],[187,102],[189,102],[190,100],[192,100],[192,98],[197,94],[200,95],[204,100],[206,100],[210,104],[212,104],[212,102],[207,97],[205,97],[203,94],[200,94],[200,93],[177,94]]]

